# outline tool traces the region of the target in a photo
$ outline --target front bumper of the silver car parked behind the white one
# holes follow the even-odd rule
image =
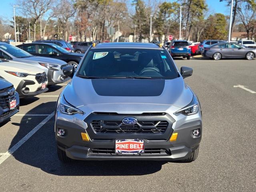
[[[61,69],[49,69],[47,73],[48,85],[56,85],[70,80],[69,77],[64,76]]]

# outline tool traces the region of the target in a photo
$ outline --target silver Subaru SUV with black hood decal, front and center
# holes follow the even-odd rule
[[[202,112],[184,82],[193,70],[153,43],[94,42],[58,98],[58,157],[75,160],[196,160]]]

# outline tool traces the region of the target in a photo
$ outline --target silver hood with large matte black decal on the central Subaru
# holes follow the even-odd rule
[[[193,98],[193,93],[182,77],[172,80],[74,77],[63,94],[76,107],[119,103],[173,105],[181,108]]]

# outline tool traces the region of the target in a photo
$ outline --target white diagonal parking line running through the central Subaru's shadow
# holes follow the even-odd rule
[[[18,143],[16,143],[12,148],[10,148],[6,153],[3,153],[0,157],[0,165],[10,157],[20,146],[24,144],[32,135],[34,135],[46,122],[50,120],[54,116],[54,112],[48,115],[40,124],[38,124],[34,129],[32,129],[26,136],[24,136]]]

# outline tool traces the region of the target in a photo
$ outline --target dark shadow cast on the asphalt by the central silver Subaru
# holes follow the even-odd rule
[[[45,103],[47,106],[55,106],[56,102]],[[30,110],[27,114],[42,109],[42,104]],[[34,118],[27,124],[24,116],[20,123],[20,129],[13,138],[10,148],[14,146],[24,135],[38,125],[45,117]],[[34,124],[33,124],[34,123]],[[18,125],[18,124],[15,124]],[[30,130],[27,130],[29,127]],[[24,133],[26,131],[26,133]],[[18,138],[18,139],[17,139]],[[80,138],[78,138],[80,139]],[[54,117],[42,126],[31,138],[12,154],[16,160],[40,168],[44,172],[59,176],[126,176],[146,175],[161,170],[164,161],[73,161],[64,164],[58,160],[54,135]]]

